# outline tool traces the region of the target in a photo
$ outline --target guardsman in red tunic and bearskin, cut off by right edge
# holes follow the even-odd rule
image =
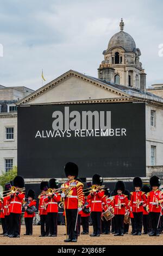
[[[152,233],[149,236],[159,236],[159,217],[162,211],[163,192],[159,190],[160,179],[152,176],[149,181],[152,191],[147,194],[147,210],[151,220]]]

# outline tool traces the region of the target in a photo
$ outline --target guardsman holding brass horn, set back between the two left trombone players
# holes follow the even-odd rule
[[[23,205],[24,211],[24,221],[26,224],[26,234],[24,235],[32,235],[33,234],[33,218],[35,217],[36,211],[36,200],[34,190],[29,190],[27,193],[28,202]]]

